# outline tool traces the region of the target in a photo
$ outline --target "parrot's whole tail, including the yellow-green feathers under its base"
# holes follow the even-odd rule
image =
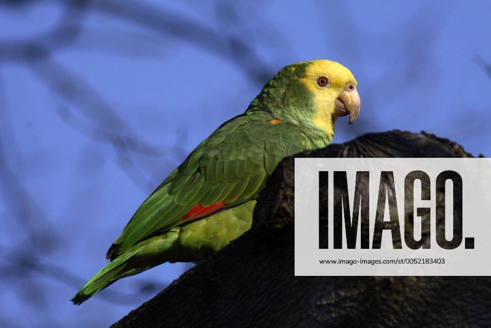
[[[76,305],[99,293],[110,284],[155,267],[169,260],[169,251],[176,246],[178,234],[168,232],[164,235],[143,240],[100,269],[71,299]]]

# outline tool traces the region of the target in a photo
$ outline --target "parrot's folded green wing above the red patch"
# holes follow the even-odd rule
[[[183,216],[197,205],[207,208],[223,202],[227,208],[256,198],[279,161],[303,149],[305,137],[300,129],[269,114],[231,119],[143,202],[109,249],[108,258],[114,259],[157,231],[182,224]],[[193,219],[199,217],[203,216]]]

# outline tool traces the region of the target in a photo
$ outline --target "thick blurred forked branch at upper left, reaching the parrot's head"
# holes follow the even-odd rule
[[[10,5],[23,6],[31,1],[8,1]],[[120,159],[121,168],[141,188],[148,188],[142,172],[133,163],[130,151],[148,155],[161,156],[164,147],[149,145],[138,138],[129,125],[116,114],[102,96],[80,77],[61,67],[53,59],[53,54],[69,47],[83,29],[83,18],[87,10],[102,11],[119,19],[128,20],[153,29],[163,37],[175,37],[191,42],[204,50],[232,60],[254,83],[264,84],[272,75],[273,69],[255,54],[245,40],[238,35],[221,35],[206,25],[197,23],[182,15],[166,11],[160,7],[144,3],[127,3],[120,1],[60,1],[64,12],[57,26],[51,31],[27,41],[0,42],[0,60],[24,61],[29,64],[47,86],[51,87],[60,98],[76,108],[85,119],[92,122],[98,132],[92,134],[98,140],[109,142]],[[238,17],[228,7],[224,15]],[[110,137],[109,137],[110,134]],[[104,138],[102,138],[104,136]],[[180,151],[182,152],[182,151]],[[146,190],[148,191],[148,190]]]

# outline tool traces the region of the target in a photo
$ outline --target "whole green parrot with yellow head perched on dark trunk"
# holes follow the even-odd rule
[[[337,118],[360,113],[357,82],[336,61],[283,67],[246,111],[221,124],[136,210],[110,262],[71,299],[165,262],[201,262],[239,238],[268,176],[287,156],[327,147]]]

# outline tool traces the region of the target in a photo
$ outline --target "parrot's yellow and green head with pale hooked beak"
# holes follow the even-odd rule
[[[331,60],[303,61],[282,68],[255,99],[280,120],[322,131],[329,140],[338,117],[360,112],[360,97],[350,70]]]

